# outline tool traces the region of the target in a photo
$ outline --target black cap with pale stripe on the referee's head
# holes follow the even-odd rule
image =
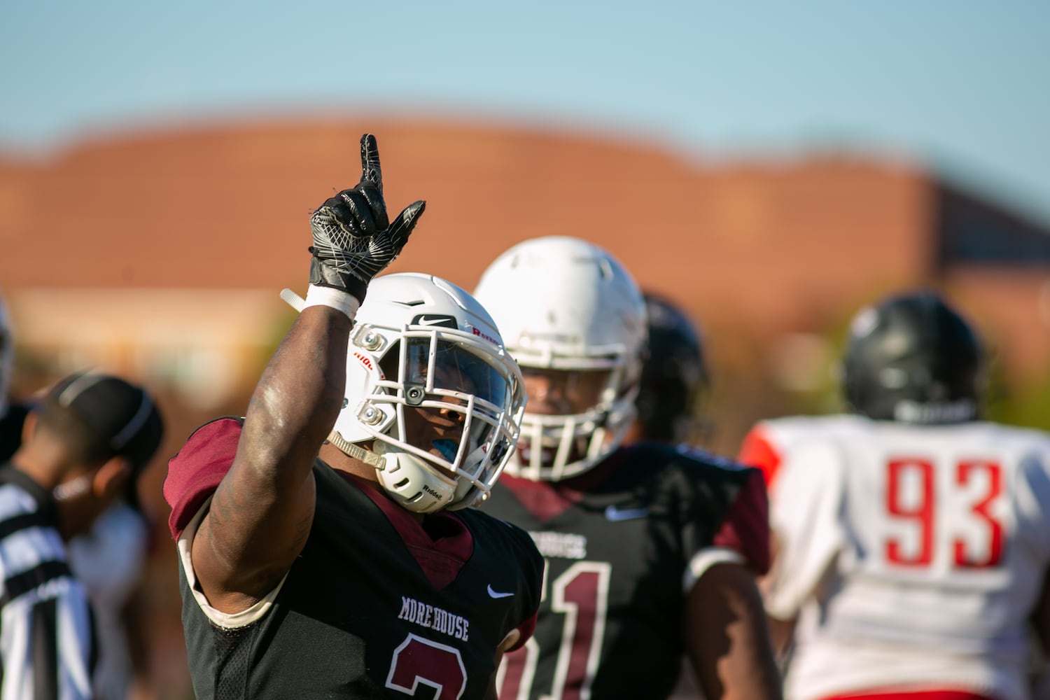
[[[149,393],[119,377],[86,372],[63,379],[51,396],[94,430],[116,457],[131,463],[127,500],[138,508],[138,476],[164,438],[164,421]]]

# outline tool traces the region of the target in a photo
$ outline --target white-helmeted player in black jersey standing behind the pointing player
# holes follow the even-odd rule
[[[536,634],[505,657],[500,697],[667,698],[688,655],[710,700],[778,698],[755,584],[769,556],[761,474],[624,444],[647,327],[631,275],[594,243],[541,237],[500,255],[475,296],[528,395],[519,451],[483,508],[547,559]]]

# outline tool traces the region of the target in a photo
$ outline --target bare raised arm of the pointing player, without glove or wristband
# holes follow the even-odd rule
[[[271,591],[310,534],[312,466],[342,406],[351,323],[302,310],[252,395],[237,453],[193,539],[209,602],[244,610]]]

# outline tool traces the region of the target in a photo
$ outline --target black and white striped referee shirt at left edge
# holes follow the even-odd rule
[[[55,503],[26,474],[0,468],[0,697],[89,700],[94,622],[69,571]]]

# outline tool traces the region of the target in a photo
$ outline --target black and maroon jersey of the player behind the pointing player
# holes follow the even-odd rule
[[[536,634],[500,670],[503,700],[667,698],[698,554],[730,548],[769,568],[761,473],[700,451],[644,443],[572,480],[504,474],[484,509],[528,530],[547,561]]]

